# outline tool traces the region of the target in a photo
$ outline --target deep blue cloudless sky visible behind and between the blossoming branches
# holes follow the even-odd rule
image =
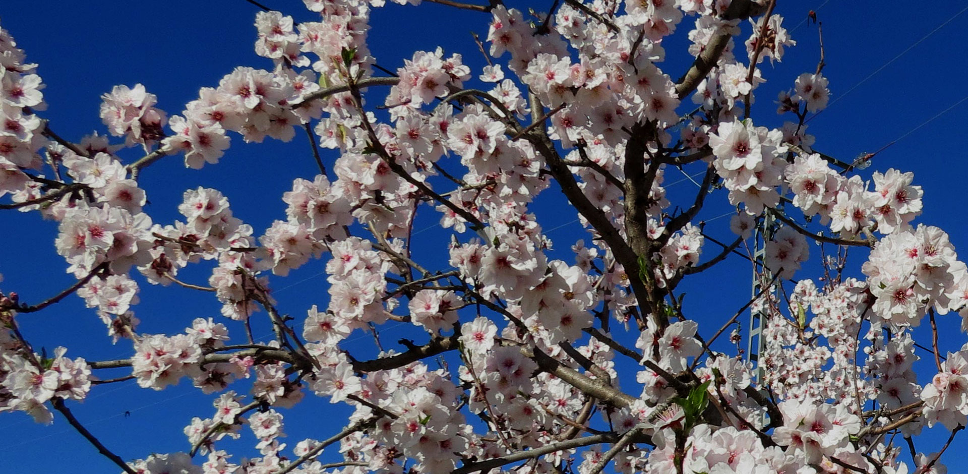
[[[266,0],[265,3],[296,20],[312,20],[298,0]],[[753,105],[758,125],[779,126],[772,101],[776,92],[789,89],[802,72],[812,72],[819,57],[817,27],[802,22],[809,10],[817,10],[823,22],[832,106],[809,123],[809,133],[817,136],[815,148],[849,161],[862,152],[883,148],[865,171],[896,167],[915,172],[915,184],[924,189],[924,213],[917,222],[937,225],[952,235],[956,249],[968,249],[965,233],[962,183],[968,171],[959,138],[968,110],[968,91],[960,84],[968,76],[968,65],[958,61],[968,14],[962,2],[932,2],[931,8],[915,12],[911,6],[891,8],[884,2],[836,2],[804,0],[779,2],[777,12],[785,15],[784,25],[798,41],[782,63],[768,65],[759,101]],[[551,2],[507,2],[519,9],[546,10]],[[50,126],[69,140],[77,141],[92,131],[105,133],[98,118],[100,96],[116,84],[145,84],[159,97],[159,106],[169,114],[197,97],[203,86],[214,86],[236,66],[271,68],[268,60],[253,51],[256,39],[253,21],[257,8],[244,0],[167,2],[118,1],[43,1],[6,2],[0,6],[0,25],[9,30],[28,60],[40,64],[39,74],[46,83],[48,110],[42,113]],[[484,36],[487,15],[458,11],[434,4],[419,8],[388,5],[372,15],[370,48],[378,63],[391,70],[403,64],[412,51],[442,45],[447,52],[462,52],[465,61],[479,72],[483,59],[473,44],[470,32]],[[946,23],[946,21],[948,21]],[[942,26],[943,25],[943,26]],[[940,28],[939,28],[940,26]],[[674,78],[687,64],[684,58],[684,33],[666,45],[670,61],[663,69]],[[748,29],[747,29],[748,31]],[[926,39],[924,38],[926,36]],[[923,40],[923,41],[921,41]],[[920,43],[919,43],[920,42]],[[898,57],[899,55],[899,57]],[[883,68],[883,69],[880,69]],[[871,75],[873,74],[873,75]],[[856,86],[856,88],[855,88]],[[846,95],[845,95],[846,94]],[[933,121],[928,119],[951,109]],[[921,128],[918,128],[922,126]],[[317,173],[307,138],[297,134],[291,143],[267,140],[262,144],[243,144],[233,136],[233,147],[222,163],[201,170],[186,169],[181,158],[170,157],[142,173],[141,183],[151,204],[147,212],[156,222],[176,219],[181,194],[198,186],[217,188],[227,194],[234,214],[251,223],[257,233],[273,220],[285,219],[286,204],[281,195],[295,177],[312,179]],[[123,155],[138,158],[137,152]],[[335,156],[324,156],[332,163]],[[690,168],[686,171],[689,172]],[[692,170],[692,173],[697,172]],[[695,186],[675,169],[667,172],[666,183],[673,197],[691,198]],[[704,210],[701,218],[711,220],[729,210],[720,193]],[[571,211],[560,212],[560,194],[549,190],[533,211],[545,229],[567,251],[582,230],[574,223]],[[422,215],[416,228],[427,251],[423,261],[446,266],[445,256],[434,253],[433,244],[448,239],[439,231],[430,213]],[[6,212],[0,215],[0,273],[4,290],[15,290],[27,302],[43,300],[71,284],[64,273],[66,264],[53,247],[54,222],[43,222],[34,214]],[[713,235],[729,238],[728,220],[711,222]],[[422,225],[422,226],[421,226]],[[583,235],[584,237],[584,235]],[[588,239],[587,239],[588,240]],[[440,247],[436,247],[440,249]],[[714,246],[708,248],[714,251]],[[819,252],[811,248],[811,252]],[[963,251],[968,252],[968,251]],[[567,257],[563,252],[557,255]],[[860,256],[860,255],[858,255]],[[965,256],[962,255],[962,258]],[[855,259],[855,264],[860,260]],[[322,261],[311,262],[287,279],[274,279],[273,286],[283,312],[301,316],[310,306],[326,305]],[[202,271],[185,274],[187,280],[204,281]],[[855,275],[859,273],[855,272]],[[810,275],[798,275],[805,278]],[[686,309],[697,314],[701,334],[710,335],[723,318],[729,317],[749,297],[748,262],[734,259],[686,283]],[[711,284],[711,282],[713,284]],[[141,304],[135,311],[141,318],[139,330],[147,333],[178,332],[195,317],[218,317],[218,303],[190,290],[142,285]],[[707,319],[708,318],[708,319]],[[965,341],[958,331],[959,321],[942,317],[942,345],[955,350]],[[37,345],[52,349],[58,344],[70,348],[69,355],[89,360],[127,357],[130,343],[108,343],[103,324],[93,311],[83,307],[79,298],[69,298],[53,309],[18,318],[24,332]],[[742,318],[745,321],[745,317]],[[229,322],[230,331],[241,334]],[[391,328],[398,339],[402,327]],[[261,328],[265,333],[268,330]],[[256,328],[259,334],[260,329]],[[415,333],[414,333],[415,336]],[[348,348],[354,354],[373,351],[372,342],[356,333]],[[928,354],[921,354],[923,360]],[[927,374],[930,366],[923,366]],[[123,374],[123,373],[120,373]],[[625,388],[634,385],[634,373],[625,376]],[[242,391],[242,389],[240,389]],[[634,389],[633,389],[634,391]],[[134,382],[96,387],[89,400],[73,404],[76,416],[123,459],[144,458],[150,453],[187,450],[182,429],[192,416],[211,416],[212,397],[202,396],[182,383],[164,392],[138,389]],[[130,417],[125,412],[131,412]],[[287,417],[286,441],[289,447],[306,436],[325,437],[342,428],[345,406],[317,400],[300,405]],[[27,416],[15,413],[0,416],[0,465],[9,472],[114,472],[117,467],[100,457],[62,418],[50,427],[34,424]],[[927,436],[919,448],[931,452],[944,439]],[[228,444],[237,451],[255,444],[246,432],[238,443]],[[923,445],[923,446],[922,446]],[[237,460],[237,459],[236,459]],[[949,462],[953,458],[948,459]]]

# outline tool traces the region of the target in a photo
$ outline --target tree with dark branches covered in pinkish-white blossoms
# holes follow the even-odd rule
[[[548,14],[434,1],[488,21],[487,67],[441,49],[379,67],[367,36],[382,0],[304,0],[318,21],[256,17],[273,69],[227,72],[170,116],[143,85],[119,85],[101,107],[111,138],[79,141],[45,121],[36,65],[0,30],[0,209],[58,222],[76,278],[40,302],[0,294],[0,411],[60,412],[128,473],[945,472],[968,423],[968,346],[942,357],[935,338],[936,370],[919,376],[912,328],[968,321],[968,267],[944,231],[915,222],[912,173],[864,181],[860,162],[813,152],[804,122],[829,101],[822,59],[780,95],[779,119],[751,116],[764,61],[795,44],[775,0],[556,0]],[[662,42],[677,29],[693,57],[674,71]],[[184,191],[175,222],[146,214],[138,178],[152,163],[219,165],[230,144],[300,130],[318,175],[293,176],[286,216],[264,231],[214,188]],[[143,158],[119,158],[134,147]],[[678,203],[663,187],[677,167],[701,172]],[[563,194],[560,212],[586,228],[571,252],[536,222],[539,193]],[[725,242],[697,220],[712,199],[735,209]],[[418,212],[437,214],[449,245],[413,252]],[[765,255],[742,252],[763,226],[775,226]],[[866,249],[857,278],[852,247]],[[763,289],[739,311],[683,307],[682,285],[743,257]],[[318,258],[328,302],[285,314],[274,282]],[[192,267],[208,280],[187,281]],[[140,290],[210,292],[222,313],[149,334]],[[35,349],[23,319],[66,298],[101,317],[105,343],[132,341],[130,357]],[[749,309],[765,314],[755,370],[716,350],[741,339]],[[256,319],[271,337],[254,336]],[[423,339],[374,358],[344,344],[389,324]],[[73,414],[132,378],[211,398],[183,452],[122,459]],[[352,414],[287,448],[284,415],[307,397]],[[935,425],[948,443],[918,452],[912,437]],[[255,447],[227,452],[241,436]]]

